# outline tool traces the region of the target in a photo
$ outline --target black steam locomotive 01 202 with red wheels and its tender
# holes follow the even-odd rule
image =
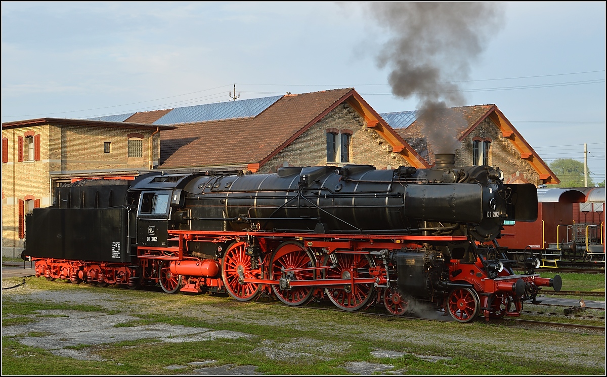
[[[26,216],[36,276],[166,293],[328,299],[396,316],[428,301],[456,321],[520,316],[541,287],[530,258],[515,274],[496,238],[534,221],[534,185],[504,185],[490,166],[378,170],[283,167],[272,174],[154,171],[58,188]]]

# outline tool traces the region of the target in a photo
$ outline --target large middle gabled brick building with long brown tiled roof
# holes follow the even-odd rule
[[[268,172],[285,163],[429,166],[351,88],[95,119],[177,126],[160,132],[158,168],[165,170]]]

